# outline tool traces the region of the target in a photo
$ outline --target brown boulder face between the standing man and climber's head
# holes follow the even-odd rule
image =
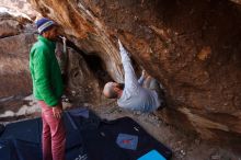
[[[67,93],[73,95],[79,104],[99,104],[102,94],[100,83],[82,55],[69,48],[67,64]]]

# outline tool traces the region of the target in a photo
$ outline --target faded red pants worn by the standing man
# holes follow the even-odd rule
[[[44,101],[38,101],[43,119],[43,160],[65,160],[66,129],[62,118],[56,118]]]

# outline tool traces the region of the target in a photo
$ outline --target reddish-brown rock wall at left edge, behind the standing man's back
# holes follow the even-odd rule
[[[23,18],[1,14],[0,21],[0,98],[30,94],[28,53],[34,34],[24,32]]]

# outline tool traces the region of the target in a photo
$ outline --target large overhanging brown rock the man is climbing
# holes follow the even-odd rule
[[[118,36],[135,61],[163,83],[169,108],[160,115],[167,122],[240,147],[240,5],[225,0],[31,2],[122,81]]]

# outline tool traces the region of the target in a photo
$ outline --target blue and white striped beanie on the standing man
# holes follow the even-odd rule
[[[42,34],[45,31],[48,31],[49,28],[51,28],[51,26],[56,25],[54,21],[46,19],[46,18],[42,18],[39,20],[36,21],[36,25],[37,25],[37,31],[39,34]]]

